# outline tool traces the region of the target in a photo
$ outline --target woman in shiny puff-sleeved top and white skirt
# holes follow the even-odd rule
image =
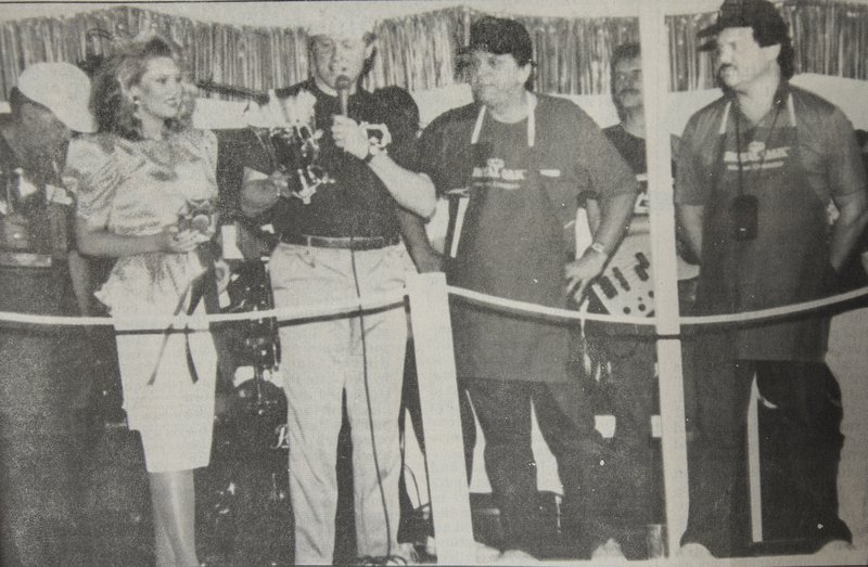
[[[207,325],[142,332],[132,319],[188,312],[206,274],[199,247],[215,223],[201,212],[217,198],[217,142],[191,127],[191,101],[167,40],[119,49],[94,79],[99,132],[71,143],[64,176],[78,195],[80,252],[117,258],[97,297],[117,319],[124,408],[144,449],[157,566],[199,565],[193,471],[208,464],[214,420]],[[192,211],[200,214],[191,228],[183,219]]]

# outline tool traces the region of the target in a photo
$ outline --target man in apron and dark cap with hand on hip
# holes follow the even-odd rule
[[[492,296],[565,307],[603,268],[623,233],[637,185],[593,121],[569,101],[526,89],[531,38],[518,22],[485,17],[467,49],[474,104],[434,120],[420,140],[420,167],[441,193],[465,194],[450,218],[449,282]],[[598,240],[571,261],[564,225],[577,195],[592,190],[605,214]],[[464,208],[465,206],[465,208]],[[460,228],[459,228],[460,224]],[[569,327],[456,301],[458,374],[485,434],[485,466],[503,546],[538,554],[540,518],[531,402],[564,484],[564,520],[599,510],[607,476],[593,416],[569,373]],[[473,427],[465,424],[465,427]],[[586,552],[604,541],[583,526]],[[592,549],[592,547],[591,547]]]

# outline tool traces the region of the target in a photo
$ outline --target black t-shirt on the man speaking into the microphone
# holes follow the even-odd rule
[[[302,90],[316,98],[316,126],[323,131],[317,165],[334,182],[320,185],[309,204],[295,197],[280,199],[261,220],[281,234],[396,237],[396,204],[388,190],[367,164],[334,145],[331,125],[332,116],[341,113],[337,98],[319,90],[312,79],[278,90],[277,95],[293,96]],[[392,112],[384,100],[358,89],[349,96],[348,115],[357,123],[385,126],[392,136],[386,147],[390,157],[401,167],[413,168],[416,128],[404,124],[408,119],[405,113]]]

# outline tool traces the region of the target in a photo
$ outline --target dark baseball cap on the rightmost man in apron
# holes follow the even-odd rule
[[[753,37],[762,47],[782,43],[789,37],[787,23],[775,4],[767,0],[725,0],[717,13],[717,22],[702,29],[699,38],[710,38],[728,27],[753,28]],[[715,49],[709,41],[700,47],[703,51]]]

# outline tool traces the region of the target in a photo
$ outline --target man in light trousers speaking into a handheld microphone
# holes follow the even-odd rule
[[[369,24],[323,14],[308,30],[311,77],[279,89],[271,101],[292,108],[296,118],[306,118],[303,106],[312,104],[312,124],[306,126],[319,147],[318,171],[328,175],[320,179],[328,180],[299,188],[297,164],[284,164],[289,177],[245,169],[242,210],[273,227],[280,241],[270,260],[277,307],[403,289],[413,267],[400,242],[396,209],[421,217],[434,211],[431,180],[409,169],[416,164],[417,125],[360,86],[374,53]],[[334,559],[344,394],[358,553],[381,559],[404,554],[397,544],[404,307],[294,322],[281,326],[280,339],[295,562]]]

